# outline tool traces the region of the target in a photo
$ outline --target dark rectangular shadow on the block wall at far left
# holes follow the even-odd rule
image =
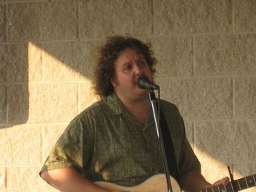
[[[26,123],[29,117],[29,46],[0,47],[1,127]]]

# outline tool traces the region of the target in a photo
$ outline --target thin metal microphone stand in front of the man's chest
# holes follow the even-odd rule
[[[159,127],[159,122],[158,122],[158,112],[157,112],[157,104],[156,104],[156,96],[154,94],[154,91],[149,90],[148,91],[148,97],[151,102],[152,110],[153,110],[153,115],[154,115],[154,122],[156,124],[157,128],[157,137],[159,139],[159,148],[160,148],[160,153],[162,157],[162,163],[165,169],[165,177],[166,177],[166,182],[167,182],[167,192],[173,192],[173,189],[170,184],[170,172],[169,172],[169,167],[167,164],[167,158],[166,158],[166,153],[165,153],[165,147],[163,144],[163,139],[162,139],[162,132],[161,128]]]

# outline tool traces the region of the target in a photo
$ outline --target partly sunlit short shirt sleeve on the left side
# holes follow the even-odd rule
[[[50,151],[39,174],[64,168],[73,168],[78,172],[83,172],[86,159],[89,158],[89,150],[91,150],[89,140],[92,139],[87,126],[80,117],[72,120]]]

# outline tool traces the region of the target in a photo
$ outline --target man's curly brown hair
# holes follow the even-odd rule
[[[157,59],[153,56],[151,44],[141,42],[132,37],[114,36],[108,37],[102,47],[99,47],[97,63],[94,68],[94,91],[101,98],[113,93],[113,86],[110,82],[115,77],[114,63],[121,52],[127,48],[140,51],[143,54],[152,74],[156,72],[154,65]]]

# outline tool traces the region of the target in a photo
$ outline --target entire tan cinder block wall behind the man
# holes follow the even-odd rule
[[[0,0],[0,191],[55,191],[39,169],[97,100],[94,48],[115,34],[152,43],[210,182],[256,173],[256,1]]]

